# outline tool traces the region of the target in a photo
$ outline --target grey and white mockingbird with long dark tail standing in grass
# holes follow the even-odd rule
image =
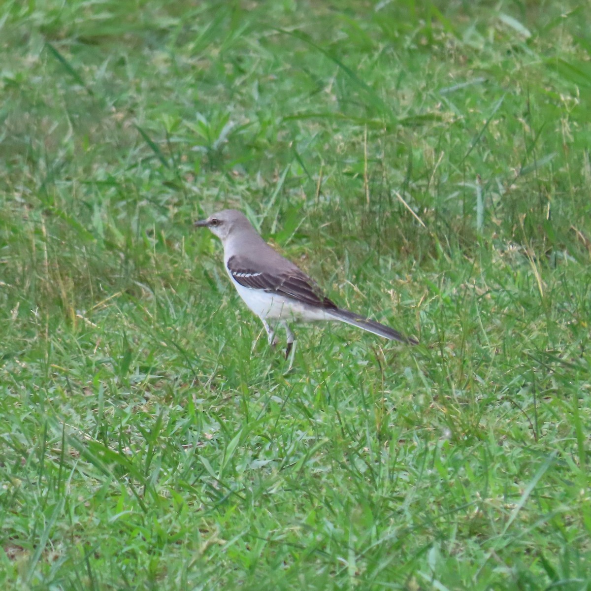
[[[195,226],[209,228],[222,241],[223,262],[230,280],[246,306],[261,319],[269,345],[277,344],[277,327],[285,328],[285,358],[295,341],[288,323],[298,320],[339,320],[386,339],[411,345],[418,343],[413,337],[405,337],[375,320],[339,308],[323,295],[314,280],[275,252],[243,213],[226,209],[195,222]]]

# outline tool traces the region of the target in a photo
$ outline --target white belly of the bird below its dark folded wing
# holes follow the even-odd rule
[[[244,287],[230,275],[230,279],[239,296],[260,319],[285,320],[286,322],[317,322],[319,320],[336,320],[324,310],[314,309],[291,298],[267,293],[266,291]]]

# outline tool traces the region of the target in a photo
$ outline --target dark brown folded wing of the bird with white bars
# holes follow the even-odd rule
[[[310,306],[337,307],[323,295],[314,280],[293,264],[275,273],[262,271],[260,265],[243,256],[234,255],[228,259],[228,271],[232,278],[244,287],[290,297]]]

